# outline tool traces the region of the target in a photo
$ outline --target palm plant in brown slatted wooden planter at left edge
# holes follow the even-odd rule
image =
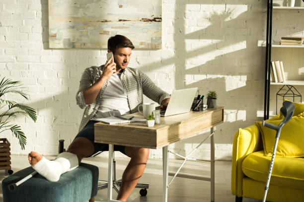
[[[10,130],[16,138],[19,139],[19,145],[21,150],[24,150],[26,145],[26,137],[21,131],[19,125],[11,123],[10,119],[18,115],[26,115],[36,122],[37,114],[32,107],[17,103],[16,101],[7,100],[7,95],[17,94],[28,100],[28,95],[22,91],[22,85],[20,81],[12,81],[11,79],[2,78],[0,81],[0,133]],[[15,97],[14,97],[15,98]],[[0,139],[2,143],[0,145],[0,160],[7,162],[5,165],[0,165],[0,170],[8,170],[9,174],[12,174],[10,170],[10,144],[6,138]]]

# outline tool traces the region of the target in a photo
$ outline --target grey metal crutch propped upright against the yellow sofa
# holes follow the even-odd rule
[[[283,119],[283,121],[281,123],[279,123],[279,125],[276,126],[272,123],[268,123],[268,122],[263,121],[263,126],[266,126],[268,128],[271,128],[271,129],[277,131],[276,141],[275,141],[275,145],[274,145],[273,152],[272,152],[271,162],[270,162],[268,176],[267,176],[267,182],[266,182],[266,186],[265,186],[263,202],[266,201],[266,196],[267,196],[267,192],[268,192],[268,188],[269,188],[271,172],[272,172],[274,158],[275,158],[276,151],[277,151],[277,146],[278,146],[278,142],[279,142],[279,138],[280,138],[281,129],[294,115],[295,104],[291,101],[284,101],[283,106],[281,107],[280,111],[285,116],[285,118]]]

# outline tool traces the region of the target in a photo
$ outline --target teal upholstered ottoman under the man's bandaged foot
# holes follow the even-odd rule
[[[36,174],[14,190],[8,190],[10,184],[32,172],[34,169],[27,167],[2,181],[3,202],[87,202],[97,195],[98,167],[86,163],[62,174],[57,182]]]

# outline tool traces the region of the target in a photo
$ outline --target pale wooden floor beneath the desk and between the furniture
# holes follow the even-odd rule
[[[54,157],[48,157],[54,159]],[[130,158],[120,157],[116,158],[117,176],[121,176]],[[89,157],[83,159],[84,163],[94,164],[99,167],[99,179],[107,179],[108,159],[105,157]],[[169,160],[169,170],[176,171],[182,160]],[[11,166],[14,172],[28,167],[27,156],[12,155]],[[187,161],[181,172],[192,173],[197,175],[210,175],[210,163]],[[235,197],[231,195],[230,191],[230,176],[231,176],[231,162],[230,161],[216,161],[216,185],[215,185],[215,201],[216,202],[234,202]],[[0,170],[0,179],[7,177],[3,170]],[[172,177],[169,176],[169,181]],[[139,189],[135,189],[128,202],[161,202],[162,200],[162,160],[149,159],[147,168],[142,176],[140,183],[149,184],[148,195],[141,197]],[[117,194],[113,191],[114,196]],[[107,190],[98,191],[95,197],[95,202],[106,202]],[[2,202],[2,191],[0,195]],[[184,178],[175,178],[169,187],[168,202],[210,202],[210,182],[191,180]],[[244,198],[243,202],[260,202],[259,200]]]

